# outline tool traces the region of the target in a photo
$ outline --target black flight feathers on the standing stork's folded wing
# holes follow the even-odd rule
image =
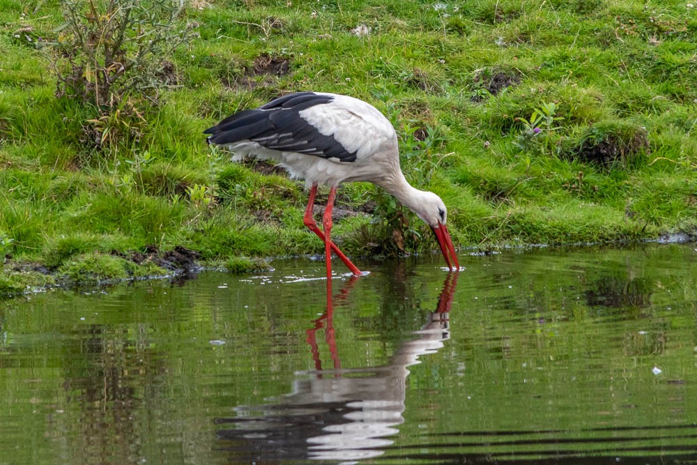
[[[322,135],[313,125],[300,117],[300,112],[315,105],[330,103],[332,96],[312,92],[297,92],[271,100],[258,109],[249,109],[228,116],[212,128],[211,144],[234,144],[250,140],[277,151],[298,152],[323,158],[355,161],[355,151],[349,153],[332,135]]]

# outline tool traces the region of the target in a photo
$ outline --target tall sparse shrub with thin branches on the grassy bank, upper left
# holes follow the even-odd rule
[[[97,110],[87,121],[95,146],[139,136],[141,102],[157,103],[159,91],[176,84],[169,57],[196,35],[178,22],[178,0],[64,0],[65,22],[49,59],[57,95]],[[130,98],[133,97],[134,98]]]

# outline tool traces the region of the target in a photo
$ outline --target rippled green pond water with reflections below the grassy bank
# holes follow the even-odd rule
[[[330,302],[309,259],[10,300],[0,463],[697,463],[696,248],[362,261]]]

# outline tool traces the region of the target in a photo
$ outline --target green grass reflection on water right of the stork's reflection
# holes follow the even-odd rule
[[[419,443],[408,412],[432,409],[429,432],[445,436],[429,436],[422,447],[434,444],[436,454],[533,463],[573,451],[579,463],[588,455],[655,463],[659,455],[670,462],[673,453],[694,454],[691,248],[504,253],[482,268],[468,262],[448,348],[411,370],[416,392],[396,442]],[[434,374],[446,388],[432,390]]]

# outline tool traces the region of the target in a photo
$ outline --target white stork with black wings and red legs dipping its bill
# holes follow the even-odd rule
[[[360,270],[331,241],[332,207],[339,183],[369,181],[390,192],[433,229],[450,270],[459,270],[457,254],[445,227],[447,208],[433,192],[413,188],[399,169],[397,133],[375,107],[334,93],[297,92],[247,109],[206,129],[208,143],[227,146],[233,160],[276,160],[292,178],[305,179],[309,201],[305,225],[325,244],[327,279],[331,252],[351,272]],[[312,216],[317,185],[330,187],[323,215],[324,231]]]

